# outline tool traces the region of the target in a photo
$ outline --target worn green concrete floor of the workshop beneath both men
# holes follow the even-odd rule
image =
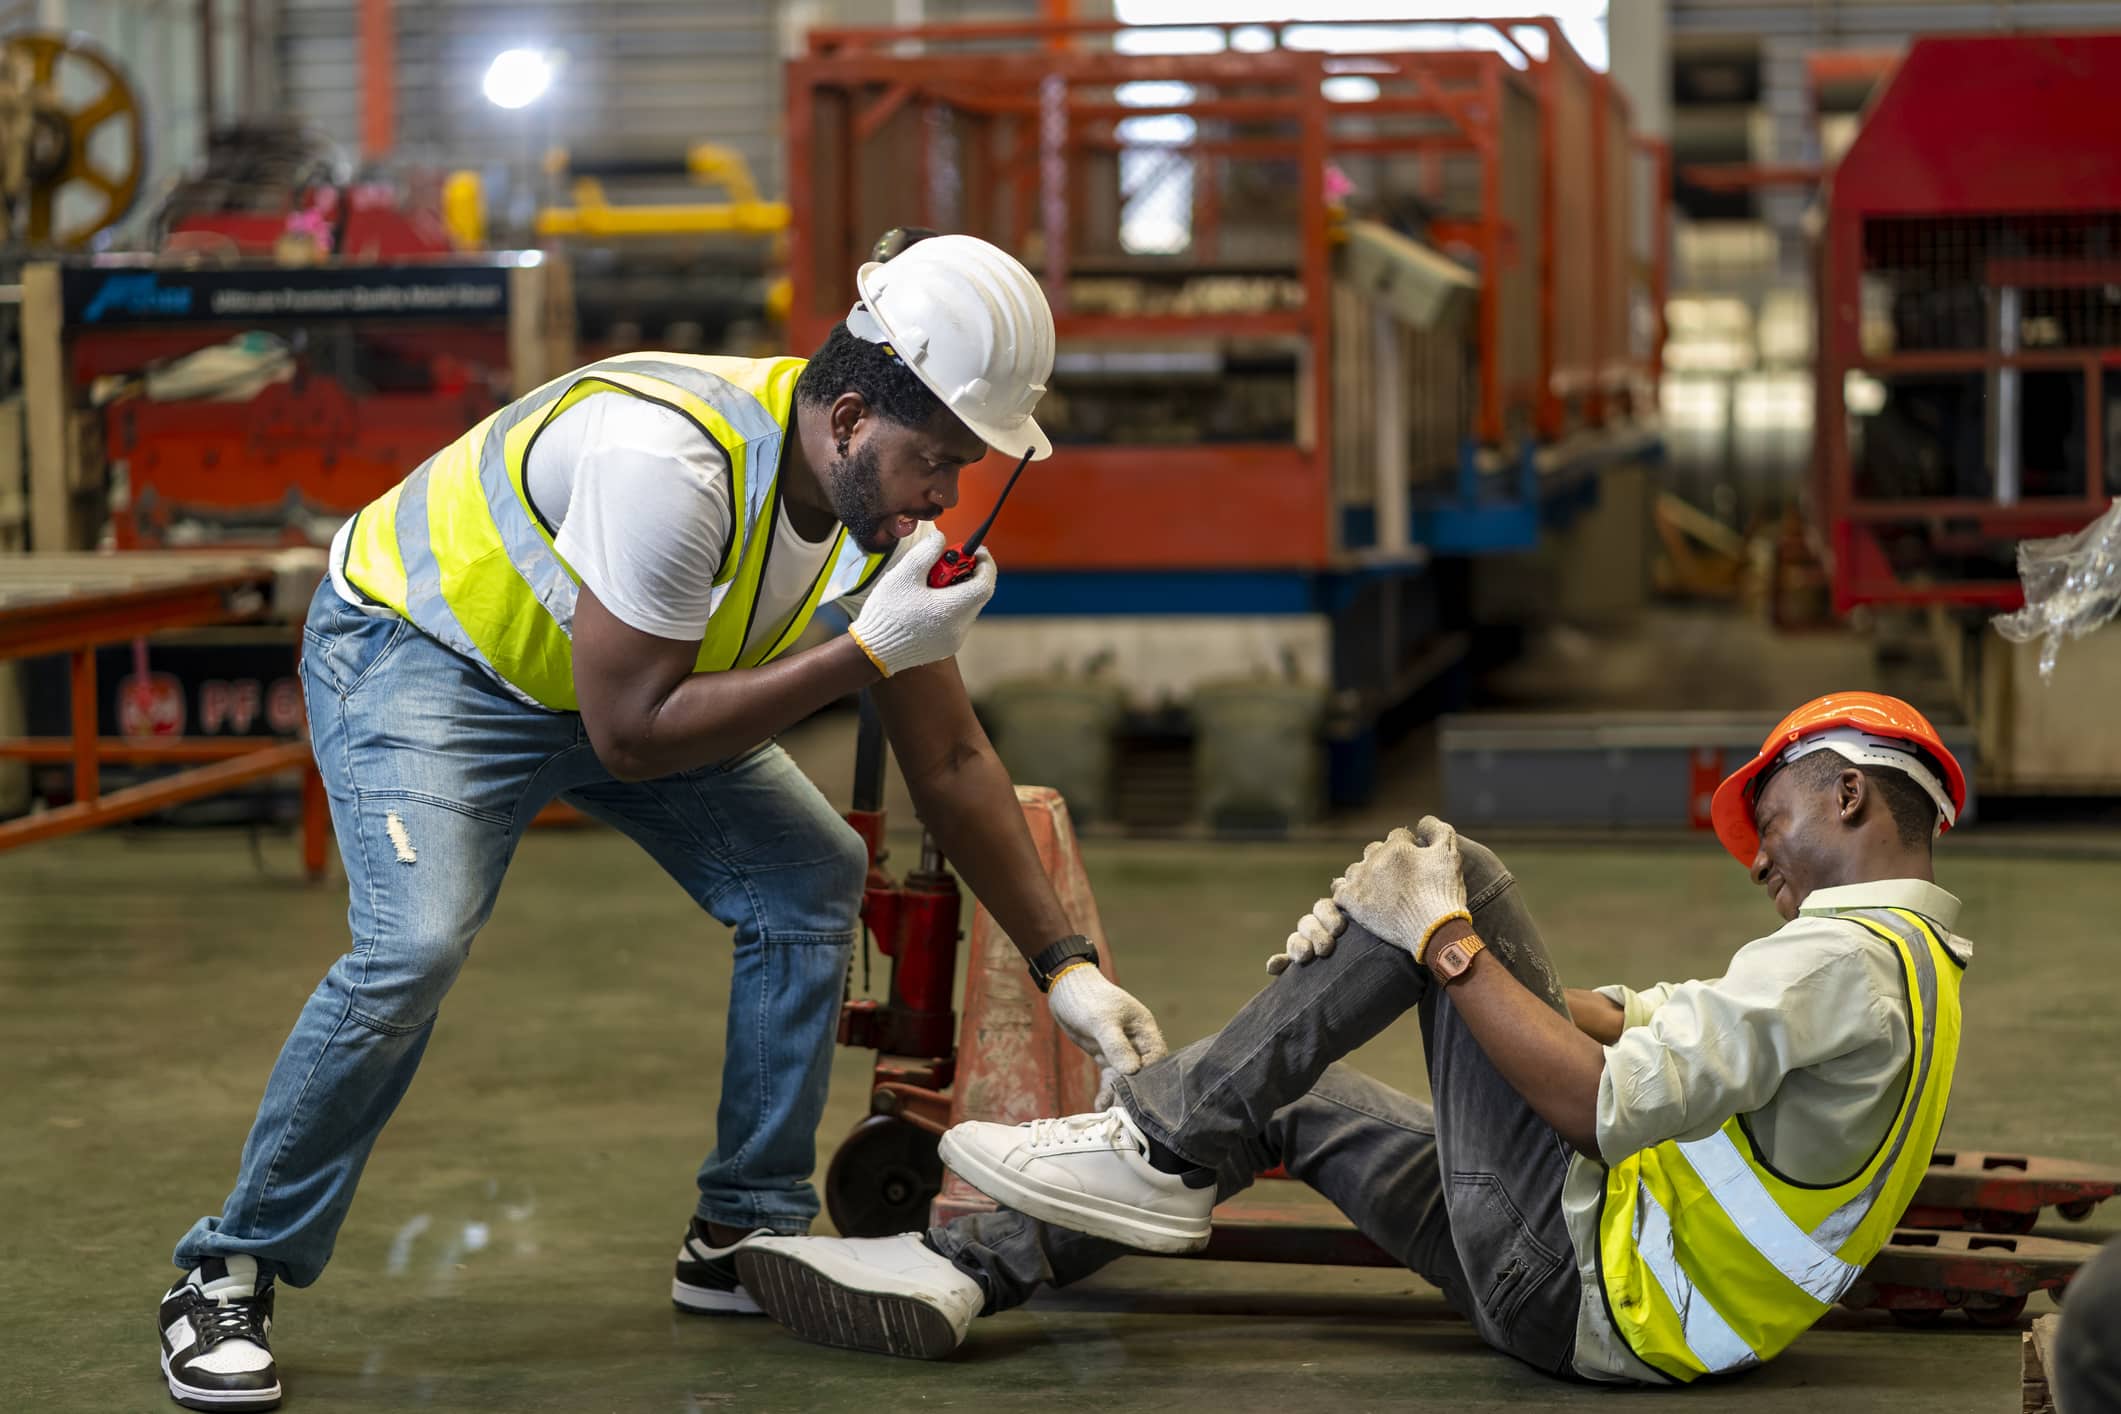
[[[1349,846],[1092,844],[1122,977],[1217,1024]],[[1506,852],[1570,982],[1714,973],[1773,924],[1707,844]],[[424,861],[422,861],[424,863]],[[1943,854],[1979,952],[1947,1141],[2121,1162],[2121,871]],[[344,939],[339,886],[240,833],[0,856],[0,1410],[163,1410],[168,1251],[233,1174],[265,1071]],[[288,1410],[1650,1408],[1487,1353],[1408,1274],[1130,1259],[976,1327],[952,1363],[668,1306],[708,1145],[725,933],[624,839],[539,833],[384,1134],[331,1272],[280,1302]],[[704,1024],[702,1024],[704,1020]],[[1421,1088],[1408,1024],[1357,1064]],[[863,1109],[842,1054],[827,1147]],[[2121,1215],[2117,1215],[2121,1217]],[[2102,1238],[2113,1221],[2064,1227]],[[2043,1310],[2045,1302],[2036,1302]],[[2015,1410],[2015,1333],[1833,1316],[1690,1410]],[[1657,1408],[1673,1408],[1659,1403]]]

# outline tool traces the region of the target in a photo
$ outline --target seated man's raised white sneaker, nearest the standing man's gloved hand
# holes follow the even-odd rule
[[[1005,1208],[1150,1253],[1207,1247],[1215,1187],[1150,1166],[1150,1141],[1120,1107],[1031,1124],[959,1124],[942,1162]]]

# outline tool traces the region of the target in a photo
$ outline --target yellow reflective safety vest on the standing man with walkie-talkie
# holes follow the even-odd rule
[[[626,354],[575,369],[509,403],[361,511],[344,575],[464,657],[556,712],[575,700],[575,598],[581,579],[554,549],[554,528],[524,490],[530,445],[547,422],[596,394],[647,399],[683,413],[730,462],[730,547],[715,570],[698,672],[755,668],[785,653],[827,604],[867,585],[884,555],[842,526],[795,617],[747,649],[781,505],[781,452],[795,416],[802,358]],[[594,475],[588,466],[581,475]]]

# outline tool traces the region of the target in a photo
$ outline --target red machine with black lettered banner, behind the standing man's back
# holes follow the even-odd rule
[[[155,212],[189,267],[64,269],[68,386],[127,379],[98,399],[121,549],[329,536],[515,390],[524,265],[458,254],[437,206],[348,182],[310,127],[238,123]]]

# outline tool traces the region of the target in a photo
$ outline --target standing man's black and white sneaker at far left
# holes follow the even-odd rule
[[[271,1276],[257,1257],[208,1257],[170,1287],[155,1316],[161,1374],[187,1410],[271,1410]]]

